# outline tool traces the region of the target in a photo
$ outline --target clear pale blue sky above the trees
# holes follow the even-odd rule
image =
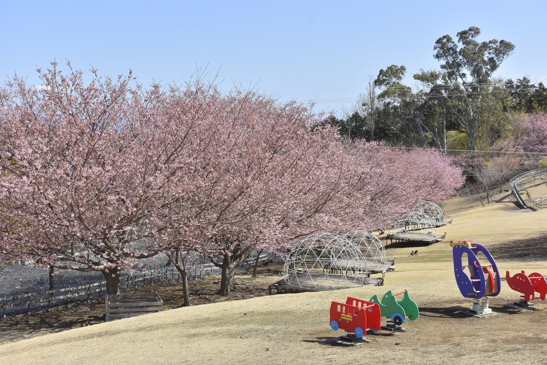
[[[339,111],[380,68],[437,68],[435,40],[469,26],[481,28],[479,40],[516,45],[498,76],[545,83],[546,10],[544,1],[3,1],[0,76],[37,83],[37,66],[68,59],[167,83],[188,79],[197,63],[220,69],[224,89],[258,83],[282,101]]]

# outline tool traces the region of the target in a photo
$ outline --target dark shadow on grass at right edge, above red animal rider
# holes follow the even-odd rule
[[[502,242],[488,247],[497,260],[537,261],[547,259],[547,234]]]

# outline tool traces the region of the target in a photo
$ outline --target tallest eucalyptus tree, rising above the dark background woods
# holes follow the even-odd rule
[[[435,59],[444,62],[440,71],[421,71],[414,79],[430,89],[430,95],[444,96],[443,107],[455,123],[465,130],[469,149],[484,145],[504,124],[503,100],[507,94],[492,75],[513,53],[507,40],[478,42],[478,27],[458,32],[457,42],[448,34],[435,42]],[[441,99],[439,99],[441,100]],[[494,130],[491,126],[494,126]]]

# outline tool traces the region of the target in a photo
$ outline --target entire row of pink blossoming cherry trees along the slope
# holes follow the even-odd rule
[[[296,102],[199,79],[143,88],[92,70],[85,83],[68,66],[0,89],[0,254],[101,271],[108,293],[139,259],[166,253],[184,274],[200,252],[228,294],[253,249],[384,228],[463,184],[433,150],[348,143]]]

